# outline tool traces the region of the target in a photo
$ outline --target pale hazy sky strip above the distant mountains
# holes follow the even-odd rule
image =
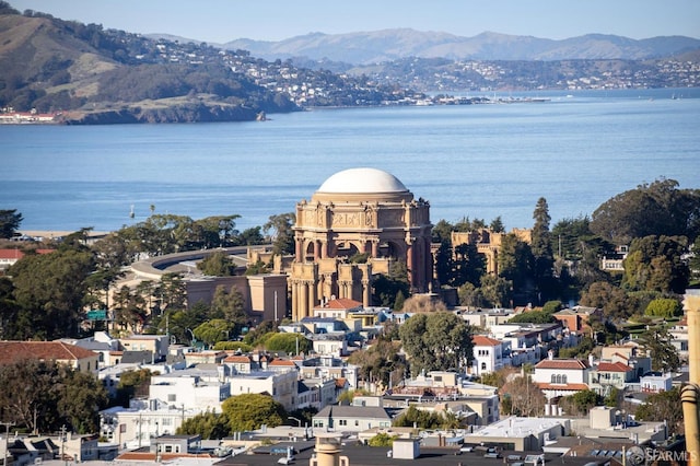
[[[196,40],[279,40],[410,27],[561,39],[588,33],[700,38],[699,0],[8,0],[20,11]]]

